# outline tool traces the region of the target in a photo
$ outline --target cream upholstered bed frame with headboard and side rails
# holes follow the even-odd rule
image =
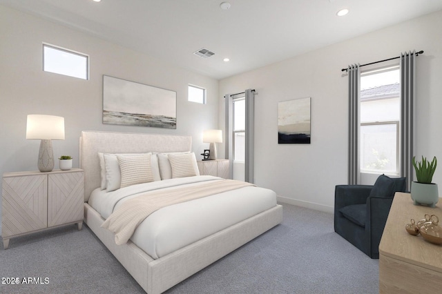
[[[278,205],[159,259],[153,259],[130,240],[116,245],[114,234],[101,228],[104,219],[87,203],[90,193],[100,186],[97,153],[183,152],[191,151],[191,145],[188,136],[81,132],[84,222],[149,294],[166,291],[282,222],[282,206]]]

